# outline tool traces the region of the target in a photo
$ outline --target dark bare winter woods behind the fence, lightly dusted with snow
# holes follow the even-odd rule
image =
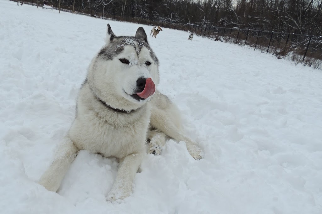
[[[34,1],[34,0],[32,0]],[[322,0],[48,0],[97,16],[320,36]],[[39,0],[39,4],[41,4]]]

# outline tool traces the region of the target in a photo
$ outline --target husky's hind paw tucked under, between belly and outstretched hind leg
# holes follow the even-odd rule
[[[166,135],[157,130],[152,130],[149,131],[148,138],[150,139],[150,142],[147,143],[147,153],[159,155],[162,147],[166,144]]]

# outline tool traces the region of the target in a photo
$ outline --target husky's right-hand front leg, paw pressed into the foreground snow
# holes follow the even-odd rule
[[[141,165],[144,154],[132,153],[120,160],[115,182],[107,196],[108,201],[124,199],[131,194],[133,179]]]

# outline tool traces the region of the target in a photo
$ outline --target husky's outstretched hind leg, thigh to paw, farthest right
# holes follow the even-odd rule
[[[187,150],[194,159],[199,160],[203,158],[204,153],[196,142],[185,136],[180,127],[175,124],[173,118],[170,118],[169,114],[167,114],[164,110],[159,108],[153,109],[150,123],[153,127],[157,128],[176,141],[185,141]]]

